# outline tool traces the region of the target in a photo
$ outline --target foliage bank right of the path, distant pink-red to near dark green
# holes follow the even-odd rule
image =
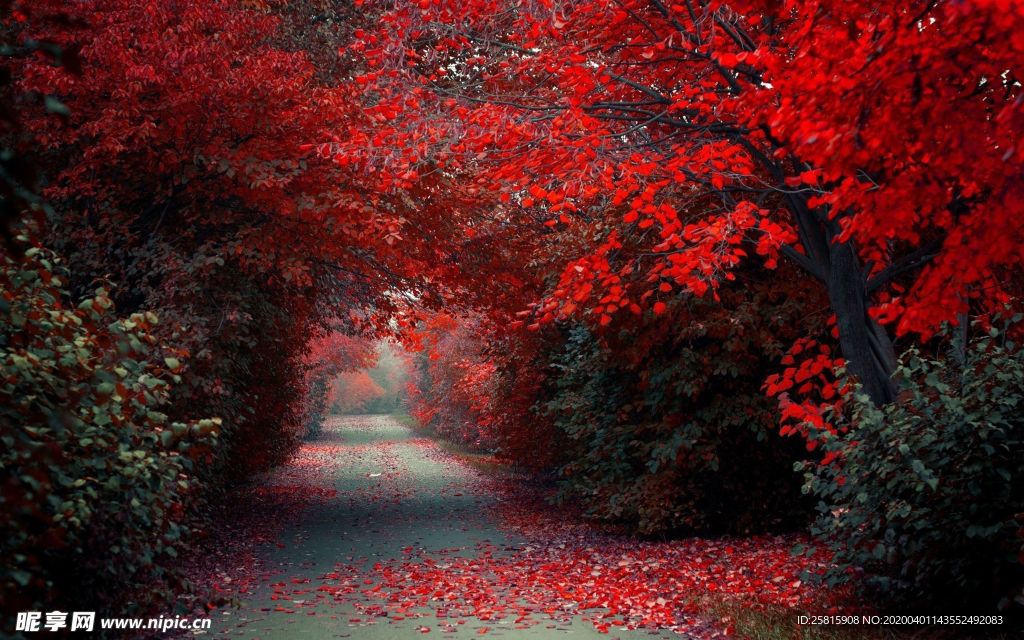
[[[434,317],[413,413],[442,437],[557,471],[562,498],[642,532],[793,526],[808,514],[792,472],[804,447],[778,434],[762,385],[798,337],[828,332],[810,281],[757,282],[767,273],[750,270],[718,301],[683,296],[642,324],[580,322],[528,339]]]

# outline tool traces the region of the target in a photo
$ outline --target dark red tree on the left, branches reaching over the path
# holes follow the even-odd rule
[[[172,416],[223,417],[223,441],[243,446],[223,459],[242,473],[281,460],[302,433],[303,358],[318,327],[340,313],[345,331],[400,331],[417,307],[470,298],[466,284],[517,246],[514,229],[482,215],[487,201],[446,174],[417,182],[414,208],[388,193],[387,172],[313,151],[372,131],[377,116],[355,85],[318,73],[353,62],[311,39],[328,27],[305,29],[310,7],[75,0],[71,22],[22,36],[79,49],[82,75],[41,55],[14,66],[23,94],[68,109],[67,124],[42,108],[23,123],[45,152],[45,242],[69,259],[73,297],[106,278],[119,312],[161,315],[161,342],[187,354]]]

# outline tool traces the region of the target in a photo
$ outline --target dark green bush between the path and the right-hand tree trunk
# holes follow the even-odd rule
[[[645,326],[568,332],[546,417],[565,435],[562,495],[643,534],[803,524],[813,513],[792,471],[802,447],[778,435],[761,385],[801,332],[814,297],[773,285],[681,297]],[[804,335],[807,335],[806,333]]]

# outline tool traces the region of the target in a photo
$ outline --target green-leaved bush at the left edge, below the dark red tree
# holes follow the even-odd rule
[[[70,605],[134,612],[166,595],[194,462],[219,430],[159,411],[180,362],[155,362],[153,313],[115,317],[104,289],[73,308],[67,282],[49,252],[0,254],[5,621]]]

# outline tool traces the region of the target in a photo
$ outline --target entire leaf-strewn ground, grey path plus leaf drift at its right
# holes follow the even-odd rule
[[[357,471],[368,467],[381,471]],[[732,628],[709,616],[707,598],[839,610],[801,582],[808,560],[791,555],[796,537],[637,540],[567,516],[522,481],[484,475],[387,417],[330,421],[257,489],[295,499],[253,503],[267,513],[240,506],[236,528],[252,532],[238,556],[247,561],[200,560],[230,578],[205,579],[220,601],[247,604],[233,627],[214,615],[220,633],[269,638],[256,630],[291,632],[309,616],[309,630],[367,638],[470,629],[538,637],[581,623],[599,635],[714,638]],[[380,625],[387,631],[371,629]]]

